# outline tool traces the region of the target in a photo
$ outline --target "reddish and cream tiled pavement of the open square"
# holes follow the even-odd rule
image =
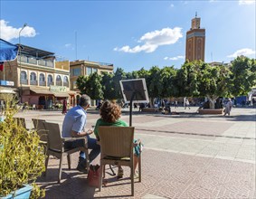
[[[142,114],[135,111],[136,137],[143,140],[142,182],[130,197],[128,168],[117,180],[107,175],[102,191],[87,184],[87,175],[75,170],[78,154],[72,156],[71,171],[64,160],[62,184],[57,184],[59,160],[51,158],[46,177],[38,180],[46,198],[256,198],[255,121],[256,109],[232,109],[232,116],[202,116],[196,108],[176,109],[180,115]],[[88,111],[88,127],[99,113]],[[32,126],[31,118],[62,124],[60,111],[18,113]],[[128,121],[128,113],[124,112]],[[94,161],[98,163],[99,158]]]

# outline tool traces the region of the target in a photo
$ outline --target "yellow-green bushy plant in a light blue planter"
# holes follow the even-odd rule
[[[15,100],[11,95],[4,98],[5,119],[0,122],[0,198],[42,197],[44,191],[35,184],[44,171],[40,137],[36,131],[27,131],[17,124]]]

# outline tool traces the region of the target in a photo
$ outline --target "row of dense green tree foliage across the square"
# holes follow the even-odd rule
[[[220,96],[246,95],[256,86],[256,61],[241,56],[236,58],[231,66],[212,66],[201,61],[186,61],[181,69],[174,69],[173,66],[159,69],[153,66],[149,71],[141,68],[139,71],[125,72],[118,68],[114,74],[103,73],[100,81],[103,98],[122,99],[119,81],[140,78],[146,80],[151,102],[154,98],[204,96],[213,101]],[[91,88],[101,93],[98,80],[79,77],[77,85],[82,94],[89,94]]]

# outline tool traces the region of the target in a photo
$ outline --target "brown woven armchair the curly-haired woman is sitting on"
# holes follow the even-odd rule
[[[102,175],[106,165],[129,166],[131,195],[134,195],[134,153],[133,127],[100,127],[100,191]],[[139,182],[141,181],[141,161],[138,161]],[[105,171],[104,171],[105,172]]]

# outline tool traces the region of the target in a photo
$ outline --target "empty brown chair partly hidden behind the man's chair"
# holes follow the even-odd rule
[[[47,150],[47,130],[44,128],[44,119],[32,118],[33,128],[36,130],[38,136],[40,137],[40,145],[43,147],[45,153]]]

